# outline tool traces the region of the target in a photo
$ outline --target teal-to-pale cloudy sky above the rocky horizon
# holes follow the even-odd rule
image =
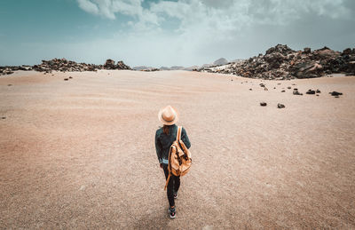
[[[0,0],[0,66],[247,59],[276,44],[355,48],[354,0]]]

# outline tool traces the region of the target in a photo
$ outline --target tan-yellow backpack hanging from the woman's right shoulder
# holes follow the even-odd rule
[[[181,139],[182,126],[177,127],[177,139],[172,143],[169,151],[168,171],[169,176],[165,183],[164,190],[166,190],[171,173],[175,176],[184,176],[191,167],[192,159],[191,153]]]

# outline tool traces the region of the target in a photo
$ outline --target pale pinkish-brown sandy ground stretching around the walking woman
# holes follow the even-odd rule
[[[355,228],[355,77],[264,81],[269,91],[261,82],[183,71],[1,76],[0,228]],[[174,220],[154,149],[168,104],[193,154]]]

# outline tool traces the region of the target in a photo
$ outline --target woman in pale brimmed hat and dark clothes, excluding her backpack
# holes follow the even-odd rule
[[[161,168],[164,171],[165,179],[168,178],[168,157],[170,146],[177,139],[177,111],[173,107],[164,107],[159,111],[159,120],[162,122],[163,127],[155,132],[155,149],[156,155]],[[181,139],[184,141],[187,148],[191,147],[190,140],[187,137],[186,131],[183,128],[181,132]],[[170,218],[176,217],[176,208],[174,199],[177,198],[177,191],[180,186],[180,177],[171,175],[168,183],[168,201],[169,201],[169,216]]]

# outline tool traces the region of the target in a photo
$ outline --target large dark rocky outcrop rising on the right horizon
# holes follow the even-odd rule
[[[335,52],[327,47],[294,51],[278,44],[265,54],[236,62],[224,69],[202,67],[199,71],[241,75],[262,79],[312,78],[333,73],[355,75],[355,49]]]

